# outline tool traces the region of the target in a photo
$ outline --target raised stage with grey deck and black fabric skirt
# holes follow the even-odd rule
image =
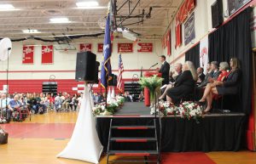
[[[128,117],[128,118],[127,118]],[[143,103],[126,102],[124,107],[114,116],[97,116],[96,128],[99,138],[104,146],[108,146],[109,123],[113,119],[115,125],[152,125],[154,116],[150,115],[149,107]],[[179,116],[161,117],[157,121],[158,135],[161,122],[161,151],[237,151],[244,144],[245,122],[247,116],[243,113],[209,114],[199,120],[185,120]],[[124,133],[122,133],[124,135]],[[152,133],[153,134],[153,133]],[[119,136],[119,133],[113,135]],[[145,133],[125,133],[143,137]],[[149,133],[150,135],[150,133]],[[151,150],[154,147],[145,147],[143,144],[115,144],[116,150]]]

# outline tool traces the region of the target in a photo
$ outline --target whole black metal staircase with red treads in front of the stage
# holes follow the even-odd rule
[[[127,119],[129,117],[125,117]],[[139,119],[139,118],[138,118]],[[160,142],[157,136],[156,119],[154,118],[153,125],[114,125],[114,118],[110,120],[108,133],[108,150],[107,150],[107,164],[109,163],[109,156],[144,156],[144,162],[160,163]],[[119,130],[122,130],[121,132]],[[132,131],[130,131],[132,130]],[[131,137],[131,132],[137,133],[137,136]],[[154,133],[154,134],[153,134]],[[143,137],[142,137],[143,136]],[[119,149],[115,146],[133,144],[130,149],[125,147]],[[147,145],[148,150],[143,150],[143,146]],[[151,148],[150,148],[151,146]],[[157,160],[151,160],[148,156],[157,156]],[[149,159],[149,160],[148,160]],[[115,162],[115,161],[114,161]],[[125,161],[124,161],[125,162]],[[128,162],[137,162],[137,160],[128,160]],[[143,162],[143,161],[139,161]]]

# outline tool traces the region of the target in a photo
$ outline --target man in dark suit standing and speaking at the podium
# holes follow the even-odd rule
[[[168,85],[169,84],[170,65],[166,61],[165,55],[160,56],[160,62],[162,65],[161,65],[160,69],[159,68],[157,69],[157,71],[162,74],[161,77],[164,79],[164,81],[162,82],[162,85],[165,85],[165,84]]]

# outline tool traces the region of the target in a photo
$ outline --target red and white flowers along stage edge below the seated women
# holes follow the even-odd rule
[[[198,119],[202,117],[202,110],[201,105],[197,105],[192,101],[184,101],[179,106],[176,106],[168,101],[161,100],[156,112],[160,116],[174,115],[188,120],[194,119],[195,122],[198,122]],[[154,107],[151,108],[150,114],[154,115]]]

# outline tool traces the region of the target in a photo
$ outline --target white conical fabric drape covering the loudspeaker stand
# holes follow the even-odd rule
[[[84,87],[78,120],[66,148],[57,157],[99,163],[103,146],[96,132],[96,122],[91,113],[92,102],[89,88]]]

